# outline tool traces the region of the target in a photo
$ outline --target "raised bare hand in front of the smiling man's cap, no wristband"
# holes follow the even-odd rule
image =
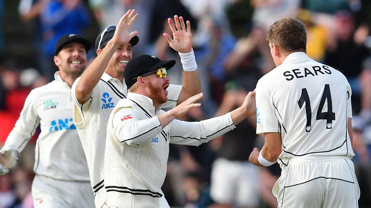
[[[138,14],[134,15],[134,13],[135,9],[129,9],[127,13],[121,17],[116,26],[114,37],[112,37],[114,43],[126,44],[131,40],[132,37],[138,34],[138,31],[129,33],[130,27],[138,17]]]

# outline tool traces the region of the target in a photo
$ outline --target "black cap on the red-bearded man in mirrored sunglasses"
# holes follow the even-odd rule
[[[128,89],[137,82],[136,77],[148,72],[154,72],[160,68],[169,70],[175,65],[175,60],[162,61],[160,58],[150,55],[140,55],[132,58],[124,70],[125,84]]]

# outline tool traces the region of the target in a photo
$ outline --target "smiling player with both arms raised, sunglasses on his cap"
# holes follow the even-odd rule
[[[127,97],[124,70],[132,58],[132,49],[138,43],[138,32],[129,33],[137,19],[135,10],[128,10],[117,26],[105,28],[97,37],[95,49],[98,57],[72,86],[75,104],[73,122],[79,132],[88,161],[95,207],[105,206],[104,152],[109,114],[118,101]],[[168,87],[168,102],[162,108],[174,108],[191,95],[201,92],[197,64],[192,50],[190,22],[187,26],[182,17],[175,16],[175,26],[168,20],[174,40],[164,34],[170,46],[179,52],[183,64],[183,86]],[[162,205],[168,207],[168,205]]]

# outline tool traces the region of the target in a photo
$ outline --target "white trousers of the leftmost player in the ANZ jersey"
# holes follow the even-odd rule
[[[32,182],[35,208],[94,208],[90,181],[61,181],[36,175]]]

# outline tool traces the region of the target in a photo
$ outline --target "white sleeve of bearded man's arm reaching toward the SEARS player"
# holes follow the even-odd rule
[[[170,143],[194,146],[209,142],[236,128],[230,113],[198,122],[175,119],[170,125]]]

